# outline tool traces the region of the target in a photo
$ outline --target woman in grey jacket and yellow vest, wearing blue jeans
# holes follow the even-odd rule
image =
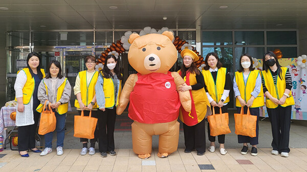
[[[38,100],[40,105],[36,111],[43,110],[43,104],[50,104],[56,117],[56,154],[63,155],[63,143],[65,135],[65,118],[68,111],[68,102],[71,96],[71,85],[67,78],[61,75],[62,69],[60,62],[52,60],[48,66],[46,78],[42,79],[38,86]],[[45,156],[52,152],[53,132],[45,134],[45,150],[40,156]]]

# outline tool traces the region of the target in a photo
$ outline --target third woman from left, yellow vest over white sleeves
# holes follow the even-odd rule
[[[98,71],[95,70],[96,59],[93,56],[87,56],[84,61],[87,70],[78,73],[74,86],[74,94],[77,97],[75,107],[79,111],[79,115],[81,115],[81,111],[83,110],[84,116],[89,116],[92,110],[92,117],[97,118],[98,107],[96,104],[95,85],[98,78]],[[90,149],[87,149],[87,138],[80,138],[83,144],[80,155],[86,155],[87,151],[89,151],[89,155],[95,154],[95,143],[98,140],[98,126],[96,126],[94,136],[95,138],[90,140]]]

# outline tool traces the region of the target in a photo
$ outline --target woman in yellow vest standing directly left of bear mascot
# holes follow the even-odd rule
[[[98,110],[98,144],[101,157],[106,157],[106,152],[116,155],[114,151],[114,129],[118,97],[122,89],[122,75],[117,65],[117,58],[108,55],[105,58],[103,69],[100,71],[96,84]]]

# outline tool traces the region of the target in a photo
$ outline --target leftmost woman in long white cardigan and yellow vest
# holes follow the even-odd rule
[[[17,101],[15,125],[18,126],[18,151],[21,157],[29,157],[28,149],[35,153],[41,152],[35,148],[35,132],[39,118],[39,113],[35,111],[39,105],[37,90],[41,79],[45,77],[40,61],[39,54],[29,53],[28,67],[17,73],[14,85]]]

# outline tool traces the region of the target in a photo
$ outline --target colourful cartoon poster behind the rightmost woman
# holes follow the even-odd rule
[[[303,58],[302,58],[303,57]],[[292,106],[291,119],[307,120],[307,62],[304,55],[298,58],[282,58],[278,62],[282,67],[288,67],[292,76],[292,95],[295,105]],[[253,61],[255,59],[253,58]],[[258,62],[256,69],[262,69],[262,59],[256,59]],[[266,106],[260,108],[260,116],[268,117]]]

